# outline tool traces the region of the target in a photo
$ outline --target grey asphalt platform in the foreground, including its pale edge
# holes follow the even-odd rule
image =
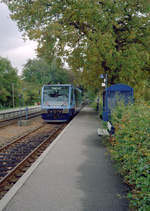
[[[126,186],[97,134],[90,107],[55,139],[0,201],[4,211],[127,211]]]

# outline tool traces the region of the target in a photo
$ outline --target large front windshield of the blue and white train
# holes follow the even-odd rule
[[[68,86],[45,86],[43,90],[43,105],[68,106]]]

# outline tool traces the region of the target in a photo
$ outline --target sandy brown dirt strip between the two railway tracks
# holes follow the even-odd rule
[[[41,117],[37,117],[30,120],[30,124],[28,126],[19,126],[19,124],[16,123],[4,128],[0,128],[0,148],[10,143],[15,138],[34,130],[43,123],[44,121],[41,119]]]

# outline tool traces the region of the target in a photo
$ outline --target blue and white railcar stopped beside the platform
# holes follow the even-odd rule
[[[69,121],[81,106],[81,90],[71,84],[44,85],[42,118],[46,122]]]

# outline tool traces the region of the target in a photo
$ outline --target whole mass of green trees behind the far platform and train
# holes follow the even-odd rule
[[[55,60],[46,63],[37,58],[28,60],[18,76],[10,61],[0,57],[0,109],[39,103],[43,84],[72,83],[71,73]]]

